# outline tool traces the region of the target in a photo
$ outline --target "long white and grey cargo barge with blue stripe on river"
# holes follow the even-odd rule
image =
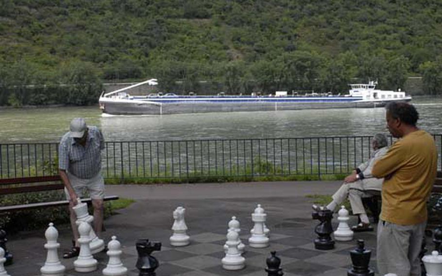
[[[375,89],[375,83],[351,84],[346,95],[305,94],[288,95],[277,91],[275,95],[217,96],[176,95],[154,93],[147,96],[131,96],[127,91],[141,85],[157,85],[150,79],[100,96],[103,113],[113,115],[165,115],[182,113],[279,111],[323,108],[382,107],[391,101],[411,101],[405,92]]]

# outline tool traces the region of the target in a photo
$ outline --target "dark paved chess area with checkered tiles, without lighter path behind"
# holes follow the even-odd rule
[[[376,271],[375,231],[355,233],[354,241],[336,242],[333,250],[317,250],[313,240],[316,238],[314,227],[319,222],[309,217],[311,203],[304,198],[297,200],[302,205],[294,206],[291,198],[286,201],[187,201],[184,206],[188,211],[186,224],[191,243],[185,247],[172,247],[169,243],[170,227],[173,223],[170,210],[182,203],[171,200],[146,201],[107,219],[107,231],[103,233],[103,238],[107,243],[112,235],[117,235],[122,245],[121,260],[129,270],[128,276],[138,276],[139,273],[135,267],[135,242],[139,238],[162,242],[161,251],[153,253],[160,263],[156,270],[157,276],[267,276],[266,258],[270,256],[271,251],[276,251],[276,255],[281,258],[284,276],[345,276],[351,268],[349,251],[356,248],[357,239],[363,239],[366,248],[372,250],[370,267]],[[256,202],[264,203],[267,207],[266,225],[271,230],[270,246],[262,249],[248,246],[249,231],[253,227],[250,214]],[[157,211],[146,212],[147,209]],[[225,256],[223,245],[226,241],[227,223],[233,214],[241,223],[240,238],[246,245],[243,254],[246,266],[242,270],[227,271],[222,268],[221,259]],[[350,225],[354,224],[356,217],[352,216]],[[333,228],[336,227],[335,216]],[[58,253],[61,258],[62,252],[70,245],[71,234],[68,225],[61,225],[57,229],[58,242],[62,246]],[[6,267],[8,273],[11,276],[40,275],[40,267],[46,259],[43,247],[45,242],[44,229],[11,237],[8,249],[14,254],[14,264]],[[74,259],[61,259],[66,266],[65,276],[102,276],[102,269],[106,266],[108,257],[105,253],[98,253],[94,257],[99,261],[99,267],[91,273],[77,273],[73,268]]]

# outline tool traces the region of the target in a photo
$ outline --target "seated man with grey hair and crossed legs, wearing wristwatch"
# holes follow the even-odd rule
[[[374,152],[372,157],[360,164],[352,174],[348,175],[344,179],[344,183],[340,189],[333,194],[333,201],[330,202],[325,208],[334,211],[348,196],[350,205],[354,215],[359,215],[361,221],[360,224],[352,227],[355,232],[373,231],[373,227],[370,226],[367,214],[364,206],[362,205],[362,197],[369,197],[367,190],[382,190],[383,178],[375,178],[372,175],[372,168],[374,162],[384,156],[388,151],[387,137],[382,133],[374,135],[372,140],[372,146]],[[317,205],[312,206],[314,210],[319,210]]]

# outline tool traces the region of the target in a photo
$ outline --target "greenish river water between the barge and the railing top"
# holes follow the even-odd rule
[[[442,98],[413,99],[419,127],[442,134]],[[105,116],[98,106],[0,110],[0,143],[57,142],[74,117],[102,129],[107,141],[294,138],[387,132],[384,108]]]

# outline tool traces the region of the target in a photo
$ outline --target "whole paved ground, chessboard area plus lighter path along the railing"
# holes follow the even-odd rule
[[[340,182],[336,181],[109,185],[106,187],[108,195],[133,198],[136,203],[104,222],[107,230],[102,238],[107,243],[111,236],[117,236],[122,245],[121,259],[129,269],[129,276],[138,275],[135,268],[138,238],[162,242],[162,250],[154,253],[160,262],[157,276],[265,276],[265,259],[272,250],[281,257],[285,276],[344,276],[351,267],[348,251],[355,248],[356,242],[337,242],[334,250],[316,250],[313,229],[318,222],[311,219],[312,201],[306,198],[307,194],[332,194],[339,186]],[[266,224],[271,229],[270,246],[264,249],[251,248],[247,241],[253,227],[251,213],[257,204],[265,208]],[[169,243],[172,211],[178,206],[186,208],[191,244],[172,248]],[[243,255],[246,268],[240,271],[221,268],[222,245],[232,216],[240,221],[240,237],[246,244]],[[355,223],[356,217],[352,217],[351,224]],[[336,224],[335,218],[335,227]],[[60,233],[61,256],[70,246],[70,230],[68,225],[55,226]],[[14,264],[6,269],[11,276],[39,275],[39,268],[46,259],[44,231],[9,236],[7,248],[14,254]],[[366,247],[373,249],[371,267],[375,269],[375,233],[357,233],[355,238],[364,239]],[[99,270],[83,274],[74,271],[74,259],[62,259],[67,267],[65,275],[102,275],[108,257],[98,253],[95,258],[99,261]]]

